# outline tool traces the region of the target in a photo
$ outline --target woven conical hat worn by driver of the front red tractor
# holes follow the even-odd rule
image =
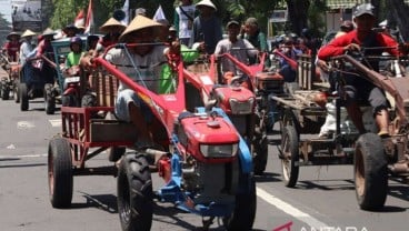
[[[129,23],[127,29],[122,32],[119,37],[119,41],[123,42],[129,40],[131,33],[144,29],[144,28],[153,28],[153,37],[157,37],[163,29],[163,26],[159,22],[153,21],[144,16],[137,16],[133,20]]]

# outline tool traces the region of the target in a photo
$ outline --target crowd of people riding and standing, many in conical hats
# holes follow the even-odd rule
[[[309,31],[302,30],[300,36],[288,33],[276,38],[272,44],[268,44],[266,34],[260,30],[258,20],[253,17],[248,18],[243,23],[230,20],[226,27],[217,17],[217,7],[210,0],[202,0],[196,4],[191,0],[181,0],[180,6],[174,9],[174,21],[154,21],[146,16],[146,10],[138,9],[136,18],[128,24],[123,24],[114,18],[110,18],[100,27],[103,37],[89,36],[87,44],[82,44],[81,39],[77,34],[82,33],[80,28],[73,24],[67,26],[63,37],[71,39],[71,53],[68,56],[67,68],[81,64],[83,67],[92,66],[92,59],[100,56],[104,49],[117,42],[128,43],[150,43],[150,42],[170,42],[170,48],[158,46],[138,46],[132,51],[132,59],[126,58],[123,50],[111,49],[106,57],[112,63],[121,63],[121,71],[127,73],[134,81],[149,80],[154,76],[161,77],[161,82],[147,81],[147,88],[156,92],[169,92],[172,89],[169,70],[153,70],[149,68],[140,68],[139,76],[134,76],[134,70],[127,68],[131,63],[138,63],[140,67],[149,67],[152,62],[164,62],[167,53],[180,50],[189,50],[197,57],[198,53],[222,54],[226,52],[235,56],[239,61],[246,64],[253,64],[258,60],[260,52],[275,50],[281,53],[279,60],[280,74],[285,81],[296,81],[296,69],[291,66],[291,60],[297,60],[301,53],[311,54],[317,50],[317,46],[311,46],[311,37]],[[346,20],[340,26],[340,31],[335,39],[328,44],[321,47],[318,51],[316,64],[323,71],[328,71],[327,61],[333,57],[347,51],[359,50],[361,47],[398,47],[398,43],[389,34],[376,32],[372,30],[375,26],[373,7],[369,3],[358,6],[352,16],[352,20]],[[223,37],[223,31],[227,36]],[[53,39],[54,32],[47,29],[42,34],[38,36],[38,46],[34,49],[32,38],[37,34],[30,30],[24,31],[21,36],[11,32],[3,47],[3,51],[12,61],[24,63],[33,52],[36,57],[52,52],[50,41]],[[84,47],[89,48],[84,52]],[[271,50],[270,50],[271,49]],[[392,54],[401,54],[403,50],[388,49],[387,52]],[[182,52],[186,53],[186,52]],[[183,59],[189,59],[183,54]],[[128,61],[132,61],[128,63]],[[237,67],[229,60],[220,60],[223,74],[239,74]],[[270,60],[266,62],[266,70],[269,69]],[[372,66],[376,67],[376,66]],[[167,73],[166,73],[167,72]],[[168,78],[167,78],[168,76]],[[349,99],[347,110],[355,125],[360,132],[365,132],[365,128],[360,122],[360,113],[353,103],[356,98],[368,100],[373,107],[373,116],[379,125],[381,135],[388,134],[388,113],[387,100],[381,89],[372,83],[357,78],[350,78],[347,81],[350,87],[348,91]],[[151,134],[143,133],[148,131],[150,116],[141,114],[143,103],[140,102],[137,94],[129,90],[127,86],[121,84],[119,88],[117,114],[123,119],[134,122],[141,128],[141,137],[143,142],[148,143]],[[148,118],[148,119],[147,119]],[[141,122],[144,121],[144,122]]]

